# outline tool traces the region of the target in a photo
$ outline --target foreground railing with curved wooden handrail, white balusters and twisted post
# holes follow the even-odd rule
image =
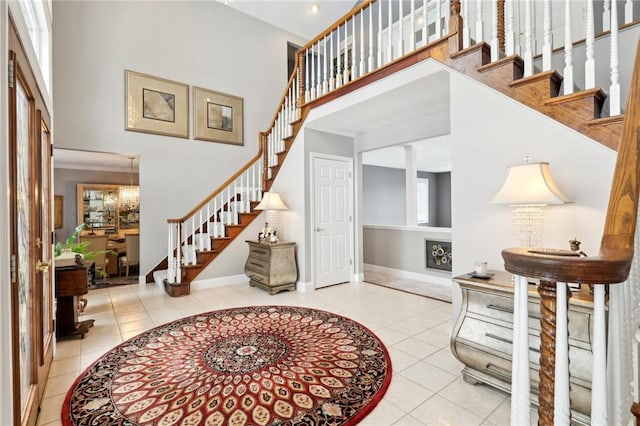
[[[632,405],[632,347],[640,325],[640,251],[636,227],[640,191],[640,43],[630,88],[600,253],[516,248],[502,252],[516,274],[511,424],[529,424],[528,279],[540,280],[539,424],[570,423],[567,283],[594,287],[591,423],[626,425]],[[639,247],[636,244],[636,247]],[[629,271],[631,269],[631,273]],[[605,285],[609,286],[608,302]],[[605,311],[608,307],[608,322]],[[607,336],[608,331],[608,336]]]

